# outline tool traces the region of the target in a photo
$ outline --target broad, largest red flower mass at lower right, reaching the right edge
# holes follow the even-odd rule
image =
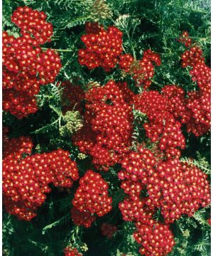
[[[124,220],[141,220],[146,204],[150,210],[160,208],[165,221],[172,223],[182,214],[192,216],[210,202],[207,175],[193,165],[182,164],[178,157],[159,162],[151,151],[139,147],[121,164],[121,188],[129,195],[119,205]],[[139,196],[144,188],[148,198],[141,201]]]

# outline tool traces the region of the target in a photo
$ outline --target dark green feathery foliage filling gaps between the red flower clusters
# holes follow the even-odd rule
[[[69,49],[60,52],[62,69],[56,82],[70,80],[85,88],[91,80],[102,85],[109,79],[122,80],[119,69],[105,73],[101,68],[88,70],[77,62],[77,52],[82,48],[80,36],[84,33],[85,21],[92,21],[91,9],[93,0],[4,0],[3,28],[18,36],[18,28],[10,21],[11,14],[18,6],[28,5],[33,9],[45,11],[48,21],[53,23],[54,36],[45,48]],[[115,25],[124,33],[124,49],[137,59],[143,50],[151,48],[160,54],[162,65],[155,68],[151,89],[160,90],[164,85],[179,85],[185,90],[193,90],[189,70],[182,69],[180,55],[185,48],[177,38],[182,31],[189,31],[197,41],[210,65],[210,1],[209,0],[108,0],[112,11],[111,18],[99,22],[104,26]],[[126,78],[125,78],[126,79]],[[133,81],[127,78],[133,88]],[[136,90],[136,88],[133,88]],[[69,137],[60,137],[59,122],[61,116],[61,91],[55,84],[41,88],[38,95],[40,110],[21,120],[9,113],[3,113],[3,124],[10,129],[10,137],[31,136],[34,142],[33,152],[44,152],[58,149],[70,151],[73,160],[77,161],[80,175],[92,167],[91,159],[80,160],[78,149],[72,145]],[[140,114],[135,113],[134,137],[141,136]],[[143,121],[143,120],[142,120]],[[143,132],[142,132],[143,134]],[[187,148],[182,152],[182,161],[189,157],[195,159],[195,165],[205,173],[209,171],[210,134],[196,138],[185,132]],[[141,138],[140,138],[141,139]],[[143,140],[143,138],[141,139]],[[3,213],[3,247],[5,256],[58,256],[68,242],[80,247],[83,242],[89,250],[84,255],[138,255],[138,245],[133,241],[132,223],[124,223],[119,213],[118,203],[124,198],[116,173],[119,166],[111,168],[104,178],[110,182],[110,195],[114,197],[113,210],[91,228],[77,228],[70,219],[71,200],[77,183],[71,193],[60,192],[58,188],[48,194],[48,198],[38,210],[38,216],[31,222],[18,221],[14,216]],[[199,210],[193,218],[182,216],[172,225],[176,245],[170,255],[173,256],[206,256],[210,255],[210,228],[207,219],[210,208]],[[155,218],[160,218],[156,215]],[[113,240],[104,238],[99,230],[102,222],[115,223],[119,232]]]

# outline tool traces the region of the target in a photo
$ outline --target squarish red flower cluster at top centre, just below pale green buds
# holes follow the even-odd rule
[[[114,68],[122,52],[123,33],[114,26],[109,26],[105,31],[97,23],[87,23],[86,31],[87,34],[81,37],[86,48],[79,50],[80,65],[86,65],[89,69],[100,66],[105,71]]]

